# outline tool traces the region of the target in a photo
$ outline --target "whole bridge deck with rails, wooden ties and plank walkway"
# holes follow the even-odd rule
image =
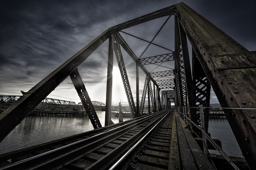
[[[0,169],[215,169],[176,111],[154,115],[0,155]],[[31,160],[23,164],[24,159]]]

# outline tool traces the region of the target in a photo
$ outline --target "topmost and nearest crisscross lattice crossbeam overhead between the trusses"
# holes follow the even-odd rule
[[[146,57],[146,58],[139,59],[139,61],[142,65],[173,61],[173,53],[162,54],[162,55],[157,55],[153,57]]]

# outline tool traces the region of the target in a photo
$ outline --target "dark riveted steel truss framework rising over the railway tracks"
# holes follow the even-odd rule
[[[159,24],[159,30],[149,41],[127,31],[129,28],[159,18],[165,22]],[[154,43],[153,40],[171,20],[170,18],[174,22],[174,37],[169,39],[173,42],[173,47],[166,48]],[[125,37],[147,42],[148,46],[144,52],[153,46],[162,48],[164,52],[141,57],[135,54]],[[192,63],[187,39],[192,46]],[[78,67],[105,41],[108,41],[105,126],[112,123],[112,70],[115,55],[133,118],[142,115],[146,96],[150,101],[149,111],[151,107],[153,112],[170,108],[170,102],[174,101],[175,107],[183,110],[182,117],[193,122],[187,121],[191,132],[202,136],[202,132],[195,127],[200,125],[205,134],[208,132],[212,87],[249,167],[256,167],[256,52],[248,51],[184,3],[108,28],[0,114],[0,140],[4,139],[67,76],[70,76],[94,128],[101,127]],[[129,55],[136,63],[136,101],[132,96],[124,55]],[[142,94],[139,94],[139,69],[146,77]],[[198,106],[202,106],[201,114],[198,114]],[[201,121],[202,118],[204,121]]]

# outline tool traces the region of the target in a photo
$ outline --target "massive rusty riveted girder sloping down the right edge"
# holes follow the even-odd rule
[[[256,106],[256,52],[249,52],[185,4],[175,7],[221,106],[230,108],[224,109],[227,120],[249,167],[254,169],[256,112],[248,108]]]

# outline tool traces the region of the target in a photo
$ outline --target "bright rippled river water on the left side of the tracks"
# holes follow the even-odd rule
[[[97,111],[105,125],[105,111]],[[118,123],[118,118],[111,118]],[[124,118],[124,121],[130,118]],[[28,116],[0,143],[0,154],[93,130],[89,118]]]

